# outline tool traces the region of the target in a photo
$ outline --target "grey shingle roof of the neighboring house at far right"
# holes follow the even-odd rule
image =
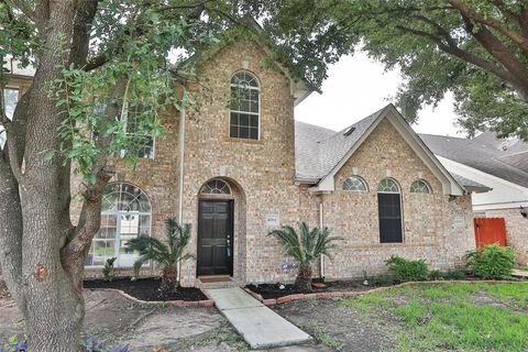
[[[472,140],[432,134],[420,138],[436,155],[528,187],[528,144],[520,140],[501,140],[493,132]]]

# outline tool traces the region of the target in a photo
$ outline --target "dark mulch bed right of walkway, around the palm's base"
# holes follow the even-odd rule
[[[319,282],[314,280],[317,285]],[[264,299],[271,298],[280,298],[289,295],[298,294],[319,294],[319,293],[332,293],[332,292],[364,292],[372,289],[373,287],[380,286],[365,286],[362,282],[359,280],[349,280],[349,282],[329,282],[324,283],[326,287],[316,287],[314,286],[312,292],[304,292],[296,289],[293,284],[262,284],[262,285],[248,285],[245,288],[254,292],[255,294],[261,295]],[[280,288],[283,287],[283,288]]]

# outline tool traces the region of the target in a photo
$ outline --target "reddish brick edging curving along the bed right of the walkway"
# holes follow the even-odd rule
[[[466,280],[466,279],[444,279],[444,280],[431,280],[431,282],[407,282],[402,283],[398,285],[392,286],[382,286],[372,289],[361,290],[361,292],[351,292],[351,290],[336,290],[336,292],[328,292],[328,293],[314,293],[314,294],[294,294],[287,295],[278,298],[267,298],[264,299],[262,295],[252,292],[248,287],[244,287],[244,290],[250,294],[253,298],[258,300],[265,306],[275,306],[282,305],[288,301],[294,300],[302,300],[302,299],[318,299],[318,298],[338,298],[338,297],[356,297],[366,294],[372,294],[376,292],[387,290],[394,287],[404,287],[404,286],[413,286],[413,285],[429,285],[429,284],[454,284],[454,283],[462,283],[462,284],[475,284],[475,283],[485,283],[485,284],[528,284],[528,282],[515,282],[515,280],[504,280],[504,279],[481,279],[481,280]]]

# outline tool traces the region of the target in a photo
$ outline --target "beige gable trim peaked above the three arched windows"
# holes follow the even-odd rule
[[[391,114],[389,112],[393,112]],[[391,116],[394,116],[395,119],[391,119]],[[380,112],[377,118],[371,123],[369,129],[363,133],[363,135],[352,145],[349,152],[341,158],[341,161],[319,182],[319,184],[315,187],[314,190],[334,190],[334,179],[333,177],[343,167],[343,165],[349,161],[349,158],[355,153],[355,151],[363,144],[366,138],[374,131],[374,129],[380,124],[380,122],[387,118],[388,121],[393,124],[393,127],[402,134],[402,136],[406,140],[406,142],[413,147],[411,143],[406,139],[410,136],[413,141],[417,144],[418,147],[421,148],[432,165],[428,165],[426,160],[422,158],[426,166],[428,166],[431,172],[437,176],[440,180],[442,180],[442,190],[444,195],[453,195],[453,196],[462,196],[466,194],[464,187],[462,187],[454,177],[443,167],[440,161],[435,156],[435,154],[427,147],[427,145],[421,141],[421,139],[416,134],[416,132],[410,128],[404,117],[399,113],[399,111],[394,107],[394,105],[389,103],[385,108],[383,108]],[[395,120],[395,121],[392,121]],[[398,129],[399,127],[399,129]],[[403,129],[403,131],[402,131]],[[413,147],[414,148],[414,147]],[[415,148],[414,148],[415,150]],[[415,150],[415,152],[418,152]],[[419,153],[417,153],[419,155]],[[436,168],[436,170],[433,169]],[[449,187],[446,182],[449,182]]]

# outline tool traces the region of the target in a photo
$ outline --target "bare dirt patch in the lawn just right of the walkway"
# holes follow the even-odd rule
[[[273,309],[333,351],[385,351],[395,336],[391,319],[340,307],[333,299],[298,300]]]

